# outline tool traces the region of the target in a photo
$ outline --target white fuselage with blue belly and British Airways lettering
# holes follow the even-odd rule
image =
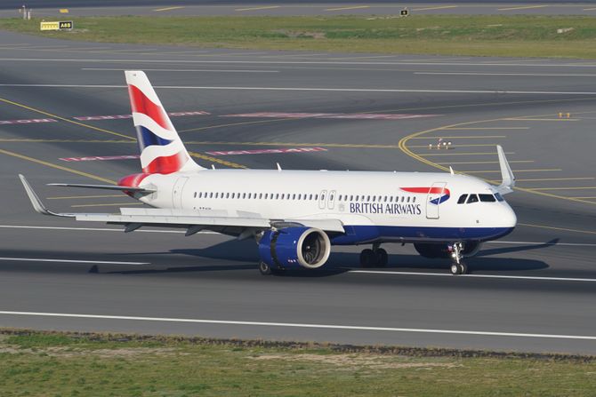
[[[484,241],[511,232],[516,223],[504,201],[458,203],[461,195],[486,198],[496,191],[480,179],[449,173],[202,170],[149,175],[141,187],[157,189],[142,202],[197,215],[339,219],[346,231],[354,227],[353,238],[334,242],[339,244]]]

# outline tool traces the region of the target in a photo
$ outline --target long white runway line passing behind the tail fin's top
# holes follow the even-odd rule
[[[0,84],[0,87],[37,88],[126,88],[111,84]],[[416,90],[398,88],[331,88],[331,87],[238,87],[201,85],[155,85],[162,90],[238,90],[238,91],[334,91],[334,92],[417,92],[448,94],[528,94],[528,95],[596,95],[596,91],[507,91],[507,90]]]

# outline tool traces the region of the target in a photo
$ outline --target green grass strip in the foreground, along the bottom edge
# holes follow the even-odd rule
[[[0,394],[589,396],[596,390],[596,362],[590,360],[349,350],[175,337],[4,335]]]

